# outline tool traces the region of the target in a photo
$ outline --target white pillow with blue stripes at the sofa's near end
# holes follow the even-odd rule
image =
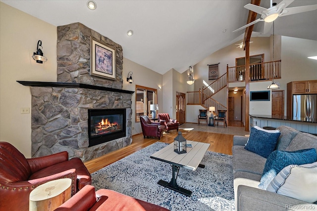
[[[266,190],[294,199],[314,203],[317,201],[317,162],[289,165],[269,183]]]

